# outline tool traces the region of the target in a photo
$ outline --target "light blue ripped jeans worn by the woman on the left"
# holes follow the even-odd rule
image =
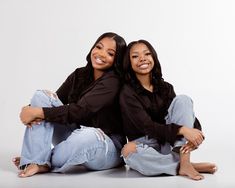
[[[31,106],[62,105],[56,94],[35,92]],[[54,147],[52,147],[52,144]],[[83,165],[91,170],[104,170],[120,165],[122,158],[112,140],[101,130],[73,124],[60,125],[42,121],[26,128],[20,167],[47,164],[53,172],[66,172],[71,166]]]

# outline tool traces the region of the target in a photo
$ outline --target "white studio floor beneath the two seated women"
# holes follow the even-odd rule
[[[216,144],[215,144],[216,145]],[[210,149],[208,149],[210,148]],[[229,152],[230,151],[230,152]],[[67,174],[47,173],[30,178],[18,178],[17,169],[11,163],[16,152],[1,152],[0,187],[1,188],[104,188],[104,187],[135,187],[135,188],[234,188],[235,175],[233,172],[234,151],[228,147],[211,147],[207,143],[192,154],[194,162],[211,161],[218,165],[219,170],[214,174],[204,174],[205,179],[193,181],[181,176],[144,177],[129,170],[128,167],[118,169],[87,172],[82,168],[71,170]],[[214,156],[212,158],[212,156]]]

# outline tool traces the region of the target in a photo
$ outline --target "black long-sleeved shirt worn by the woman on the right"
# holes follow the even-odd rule
[[[129,84],[123,86],[120,93],[120,105],[124,132],[129,141],[148,136],[160,143],[174,144],[182,125],[165,123],[168,108],[176,96],[173,86],[164,82],[164,96],[160,96],[157,87],[153,92],[144,89],[140,84],[133,87]],[[194,127],[201,129],[196,119]]]

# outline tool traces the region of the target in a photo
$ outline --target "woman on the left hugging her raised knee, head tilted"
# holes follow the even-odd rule
[[[56,93],[36,91],[22,108],[26,131],[21,157],[13,159],[20,177],[65,172],[74,165],[103,170],[123,164],[118,96],[125,49],[121,36],[102,34],[85,67],[71,73]]]

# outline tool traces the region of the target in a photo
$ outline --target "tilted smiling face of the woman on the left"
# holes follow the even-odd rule
[[[113,66],[116,42],[112,38],[101,39],[91,51],[91,63],[95,71],[104,72]]]

